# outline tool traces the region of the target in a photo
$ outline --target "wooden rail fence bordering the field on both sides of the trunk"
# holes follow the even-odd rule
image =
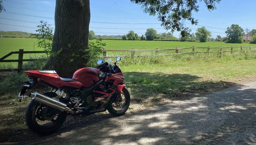
[[[230,48],[230,50],[222,50],[223,48]],[[240,48],[239,50],[233,50],[233,48]],[[152,55],[134,55],[136,51],[142,52],[142,51],[154,51],[154,56],[171,56],[171,55],[177,55],[177,54],[195,54],[195,53],[219,53],[220,55],[225,52],[230,52],[231,54],[236,51],[242,51],[244,48],[249,48],[250,51],[256,52],[256,50],[253,50],[253,48],[256,48],[256,46],[231,46],[231,47],[183,47],[183,48],[170,48],[170,49],[105,49],[103,50],[103,56],[102,58],[116,58],[117,56],[107,56],[107,52],[122,52],[122,51],[128,51],[131,52],[131,57],[144,57],[144,56],[152,56]],[[189,52],[183,52],[179,53],[179,50],[185,50],[185,49],[192,49]],[[207,49],[207,51],[195,51],[195,49]],[[210,51],[211,49],[214,49],[217,51]],[[170,51],[175,50],[175,53],[169,53],[169,54],[159,54],[159,51]],[[45,51],[23,51],[23,49],[20,49],[19,51],[12,51],[2,58],[0,58],[0,62],[17,62],[17,68],[16,69],[0,69],[0,72],[6,72],[6,71],[20,71],[20,70],[28,70],[28,69],[34,69],[34,68],[40,68],[40,67],[29,67],[29,68],[23,68],[23,62],[24,61],[36,61],[36,60],[47,60],[47,59],[23,59],[23,54],[34,54],[34,53],[46,53]],[[9,59],[5,60],[12,54],[18,54],[18,59]],[[125,56],[121,56],[125,57]]]

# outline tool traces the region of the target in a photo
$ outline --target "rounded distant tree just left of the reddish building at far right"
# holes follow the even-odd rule
[[[242,43],[244,29],[237,24],[232,24],[225,31],[227,35],[227,43]]]

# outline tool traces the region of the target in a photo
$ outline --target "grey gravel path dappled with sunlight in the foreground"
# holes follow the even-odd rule
[[[256,82],[121,117],[95,116],[21,144],[256,145]]]

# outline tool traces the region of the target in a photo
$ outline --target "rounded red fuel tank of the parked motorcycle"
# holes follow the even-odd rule
[[[89,88],[99,81],[99,69],[84,67],[73,74],[73,79],[79,81],[83,87]]]

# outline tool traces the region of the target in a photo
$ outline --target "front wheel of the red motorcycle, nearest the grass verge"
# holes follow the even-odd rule
[[[113,97],[113,100],[108,104],[108,112],[113,116],[121,116],[125,114],[130,106],[130,93],[127,87],[122,89],[122,94],[116,93],[116,96]]]

